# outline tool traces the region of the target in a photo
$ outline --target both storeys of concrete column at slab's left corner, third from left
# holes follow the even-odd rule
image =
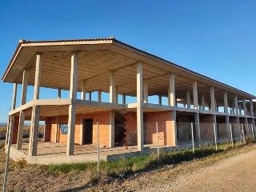
[[[35,75],[34,75],[34,100],[39,98],[41,76],[41,54],[37,54]],[[33,106],[30,126],[29,156],[37,155],[38,147],[38,126],[39,126],[40,106]]]

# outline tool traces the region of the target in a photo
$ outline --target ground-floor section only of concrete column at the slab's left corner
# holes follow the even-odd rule
[[[30,126],[29,156],[37,155],[40,106],[33,106]]]

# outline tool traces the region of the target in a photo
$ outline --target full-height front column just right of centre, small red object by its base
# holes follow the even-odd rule
[[[138,135],[138,150],[143,150],[143,68],[142,63],[137,63],[137,135]]]

